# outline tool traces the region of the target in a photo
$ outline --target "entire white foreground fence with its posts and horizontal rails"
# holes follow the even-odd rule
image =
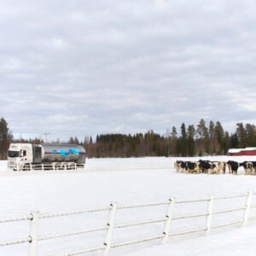
[[[252,208],[256,207],[256,204],[252,204],[253,195],[256,195],[255,192],[249,191],[245,194],[239,195],[228,195],[228,196],[212,196],[209,195],[207,198],[196,199],[196,200],[186,200],[181,201],[175,198],[170,198],[167,201],[159,201],[159,202],[152,202],[152,203],[144,203],[144,204],[137,204],[137,205],[119,205],[117,202],[112,202],[108,207],[96,207],[91,209],[83,209],[79,211],[71,211],[71,212],[53,212],[53,213],[43,213],[43,212],[31,212],[27,215],[22,216],[15,216],[15,217],[8,217],[8,218],[0,218],[0,224],[8,223],[8,222],[20,222],[20,221],[29,221],[30,222],[30,229],[28,231],[28,235],[25,237],[18,237],[12,240],[7,241],[0,241],[0,247],[3,246],[11,246],[19,243],[28,243],[29,244],[29,256],[36,256],[38,255],[38,242],[45,241],[49,239],[60,238],[64,236],[78,236],[85,233],[93,233],[96,231],[106,230],[105,238],[102,238],[102,244],[94,246],[94,247],[85,247],[77,250],[73,250],[70,252],[59,253],[58,256],[67,256],[67,255],[79,255],[82,253],[91,253],[96,251],[102,251],[103,256],[108,256],[111,248],[115,247],[125,247],[131,244],[142,243],[145,241],[153,241],[153,240],[160,240],[161,243],[166,243],[169,237],[171,236],[182,236],[191,233],[197,232],[205,232],[205,234],[209,234],[213,229],[224,228],[234,224],[241,224],[241,226],[245,226],[248,221],[256,219],[256,215],[249,214]],[[233,208],[225,208],[224,209],[214,209],[213,202],[216,201],[227,201],[227,200],[234,200],[238,198],[244,198],[245,202],[239,207]],[[175,208],[179,205],[186,205],[186,204],[194,204],[194,203],[206,203],[206,212],[195,212],[190,214],[180,214],[175,215]],[[224,204],[226,205],[226,204]],[[120,210],[128,210],[128,209],[135,209],[135,208],[143,208],[143,207],[160,207],[166,206],[166,210],[163,213],[162,218],[149,218],[143,219],[140,221],[132,221],[132,222],[123,222],[123,223],[115,223],[116,222],[116,213]],[[38,234],[38,224],[40,219],[43,218],[58,218],[63,216],[72,216],[82,213],[91,213],[91,212],[106,212],[108,211],[108,220],[107,224],[90,228],[90,229],[80,229],[80,230],[72,230],[69,232],[59,232],[55,234],[47,234],[41,236]],[[241,212],[241,218],[236,218],[232,221],[225,221],[225,223],[218,223],[212,224],[212,217],[214,215],[221,215],[228,212]],[[202,227],[196,227],[189,230],[178,230],[172,232],[172,224],[175,221],[181,219],[189,219],[189,218],[205,218],[205,225]],[[226,219],[225,219],[226,220]],[[163,229],[162,232],[159,234],[142,237],[130,241],[119,241],[113,242],[113,230],[117,229],[125,229],[132,226],[141,226],[146,224],[156,224],[162,223]]]

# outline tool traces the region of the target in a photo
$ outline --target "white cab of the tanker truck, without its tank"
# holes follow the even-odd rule
[[[32,163],[33,152],[30,143],[11,143],[8,151],[8,167],[22,170],[25,165]]]

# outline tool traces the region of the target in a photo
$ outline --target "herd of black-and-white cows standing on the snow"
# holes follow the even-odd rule
[[[177,160],[174,162],[174,168],[177,172],[186,173],[232,173],[237,175],[238,168],[242,166],[245,174],[256,174],[256,161],[243,161],[238,163],[233,160],[228,161],[210,161],[210,160],[198,160],[198,161],[183,161]]]

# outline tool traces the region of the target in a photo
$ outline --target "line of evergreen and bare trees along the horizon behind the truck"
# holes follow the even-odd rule
[[[7,158],[9,143],[44,143],[36,137],[15,139],[5,119],[0,120],[0,159]],[[52,142],[59,143],[59,141]],[[164,135],[146,133],[102,134],[96,139],[70,137],[66,143],[83,145],[88,157],[202,156],[227,154],[229,148],[256,147],[256,126],[237,123],[235,132],[224,131],[219,121],[201,119],[198,125],[182,125],[167,129]]]

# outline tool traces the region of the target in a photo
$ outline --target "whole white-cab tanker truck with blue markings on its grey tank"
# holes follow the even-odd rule
[[[11,143],[8,167],[14,171],[84,168],[85,149],[75,144]]]

